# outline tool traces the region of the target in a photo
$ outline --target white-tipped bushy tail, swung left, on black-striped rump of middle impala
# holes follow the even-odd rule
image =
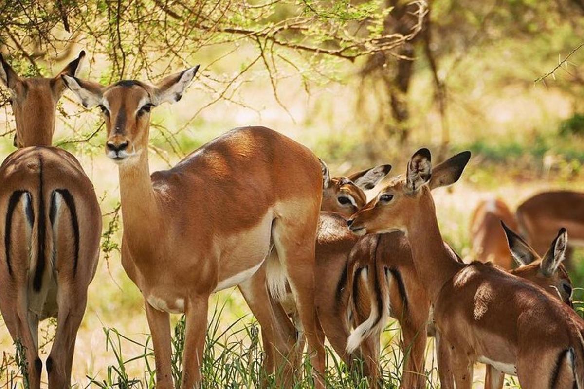
[[[360,321],[365,317],[365,307],[369,303],[369,316],[362,323],[357,325],[349,339],[347,339],[346,351],[353,353],[364,339],[370,337],[374,332],[380,332],[385,327],[385,322],[390,313],[390,276],[386,275],[383,266],[377,262],[377,246],[372,253],[372,260],[364,267],[356,266],[353,269],[352,276],[349,278],[351,288],[350,311],[353,313],[353,321]],[[360,288],[360,285],[366,285],[366,288]]]

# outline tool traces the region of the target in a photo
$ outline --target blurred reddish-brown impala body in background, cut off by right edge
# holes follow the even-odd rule
[[[565,227],[570,232],[566,265],[571,266],[571,246],[584,246],[584,192],[552,191],[530,197],[517,207],[519,232],[543,255],[555,232]]]

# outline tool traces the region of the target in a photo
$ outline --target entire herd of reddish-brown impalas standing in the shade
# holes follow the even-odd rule
[[[425,388],[432,336],[442,388],[471,388],[479,362],[486,388],[510,374],[524,388],[584,389],[584,321],[562,264],[564,227],[571,244],[584,243],[584,194],[544,192],[516,213],[481,202],[470,228],[477,261],[464,263],[442,239],[432,190],[454,184],[470,152],[433,166],[420,149],[369,202],[364,191],[390,165],[331,177],[309,149],[264,127],[234,129],[150,174],[150,111],[179,101],[199,66],[155,85],[102,86],[77,78],[84,57],[54,78],[21,78],[0,55],[18,148],[0,167],[0,309],[26,349],[31,388],[41,384],[47,317],[57,318],[48,387],[69,387],[99,258],[93,185],[74,156],[51,147],[69,89],[102,110],[106,155],[119,167],[121,262],[144,296],[157,387],[173,387],[169,314],[186,316],[181,387],[198,387],[209,296],[238,286],[262,327],[264,368],[282,387],[293,386],[305,343],[315,386],[325,386],[325,337],[349,367],[363,360],[378,386],[391,316],[402,328],[401,388]]]

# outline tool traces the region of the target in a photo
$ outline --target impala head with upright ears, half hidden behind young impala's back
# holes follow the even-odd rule
[[[559,230],[558,236],[542,258],[505,223],[501,222],[501,225],[507,236],[509,250],[519,266],[513,274],[529,279],[572,307],[572,281],[562,264],[568,246],[566,229]]]

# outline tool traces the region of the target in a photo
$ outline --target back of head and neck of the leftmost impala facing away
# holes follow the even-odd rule
[[[85,51],[55,77],[21,78],[0,54],[0,81],[11,94],[10,104],[16,120],[14,145],[50,146],[55,131],[57,101],[65,90],[61,75],[75,76]]]

